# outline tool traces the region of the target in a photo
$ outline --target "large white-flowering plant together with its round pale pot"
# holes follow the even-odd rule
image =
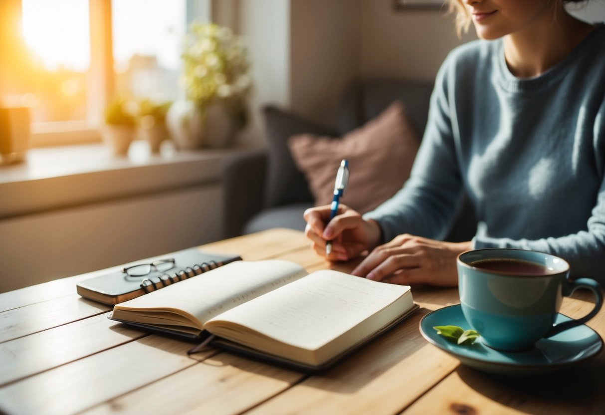
[[[252,89],[244,42],[227,27],[194,22],[181,57],[186,100],[169,109],[172,139],[178,148],[231,144],[246,125]]]

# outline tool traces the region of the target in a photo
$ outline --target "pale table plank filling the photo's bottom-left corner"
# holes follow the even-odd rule
[[[160,336],[128,342],[0,388],[0,413],[86,410],[196,364],[186,354],[190,348],[187,342]]]

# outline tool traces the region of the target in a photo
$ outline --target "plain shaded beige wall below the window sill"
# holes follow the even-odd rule
[[[0,220],[0,293],[220,240],[221,191],[193,186]]]

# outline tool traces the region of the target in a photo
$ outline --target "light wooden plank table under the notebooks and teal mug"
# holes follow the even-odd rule
[[[330,266],[293,230],[203,247],[310,271]],[[459,302],[456,289],[413,287],[420,310],[411,318],[310,376],[218,350],[188,356],[190,343],[122,327],[106,318],[110,307],[76,294],[77,281],[100,273],[0,294],[0,413],[605,413],[605,353],[548,376],[503,377],[425,341],[420,318]],[[561,312],[581,316],[587,299],[565,299]],[[588,324],[604,336],[605,310]]]

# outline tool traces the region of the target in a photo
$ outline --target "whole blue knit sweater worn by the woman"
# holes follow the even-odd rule
[[[365,218],[385,240],[444,238],[466,192],[475,248],[567,260],[605,282],[605,26],[532,79],[506,66],[502,39],[453,50],[437,74],[410,179]]]

